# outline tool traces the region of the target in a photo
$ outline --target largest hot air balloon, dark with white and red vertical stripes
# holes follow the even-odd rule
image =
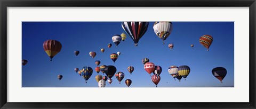
[[[137,43],[148,29],[148,22],[122,22],[122,28],[132,38],[135,46],[138,46]]]

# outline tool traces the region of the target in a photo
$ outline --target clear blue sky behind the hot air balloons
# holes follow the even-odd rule
[[[28,60],[27,65],[22,66],[22,87],[98,87],[95,60],[100,60],[100,65],[113,65],[117,72],[125,74],[121,84],[114,76],[111,84],[106,81],[106,87],[127,87],[126,79],[132,80],[130,87],[155,87],[143,68],[143,58],[149,58],[163,69],[157,87],[234,86],[234,22],[173,22],[165,44],[154,33],[153,24],[149,22],[137,47],[127,35],[117,48],[111,38],[124,32],[121,22],[22,22],[22,59]],[[213,37],[210,51],[199,43],[205,34]],[[43,49],[43,42],[49,39],[62,44],[52,61]],[[108,43],[113,46],[108,48]],[[169,43],[174,44],[172,50],[168,48]],[[194,48],[190,44],[194,44]],[[104,53],[100,52],[101,48],[105,49]],[[80,51],[78,56],[74,55],[75,50]],[[90,51],[97,52],[94,59],[89,56]],[[114,63],[110,54],[118,51],[121,55]],[[182,65],[190,67],[190,74],[187,80],[175,81],[167,69]],[[74,71],[84,66],[93,68],[87,83]],[[127,71],[129,66],[134,67],[132,75]],[[215,67],[227,69],[222,84],[212,75]],[[63,75],[61,80],[57,79],[59,74]],[[102,72],[99,75],[106,76]]]

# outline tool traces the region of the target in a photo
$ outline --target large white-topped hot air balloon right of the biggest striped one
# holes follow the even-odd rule
[[[164,40],[166,40],[172,32],[172,22],[155,22],[153,29],[157,37],[162,39],[164,44]]]

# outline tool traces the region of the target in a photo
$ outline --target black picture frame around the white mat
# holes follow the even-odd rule
[[[0,0],[1,67],[0,108],[256,108],[255,106],[255,0]],[[250,100],[249,103],[10,103],[7,102],[7,7],[249,7]]]

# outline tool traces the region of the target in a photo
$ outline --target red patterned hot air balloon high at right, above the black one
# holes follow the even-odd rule
[[[211,46],[212,41],[213,38],[211,35],[203,35],[199,39],[199,42],[202,44],[202,46],[204,46],[207,49],[207,51],[209,51],[209,47]]]

